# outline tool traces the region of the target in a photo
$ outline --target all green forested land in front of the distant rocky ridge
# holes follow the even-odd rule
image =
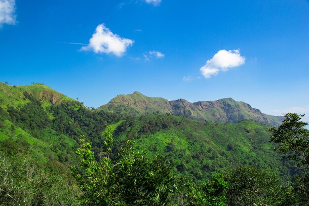
[[[0,83],[0,205],[305,206],[308,139],[284,142],[306,126],[292,125],[297,117],[269,131],[252,120],[131,116],[43,84]]]

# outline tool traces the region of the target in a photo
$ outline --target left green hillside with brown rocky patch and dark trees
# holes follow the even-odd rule
[[[44,84],[10,86],[0,82],[0,150],[30,154],[53,169],[69,172],[80,135],[86,135],[99,150],[101,133],[114,120],[113,115],[94,114]]]

